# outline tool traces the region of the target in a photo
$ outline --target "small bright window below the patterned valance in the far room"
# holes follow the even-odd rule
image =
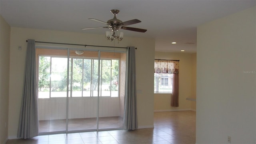
[[[173,74],[154,74],[154,93],[172,93]]]

